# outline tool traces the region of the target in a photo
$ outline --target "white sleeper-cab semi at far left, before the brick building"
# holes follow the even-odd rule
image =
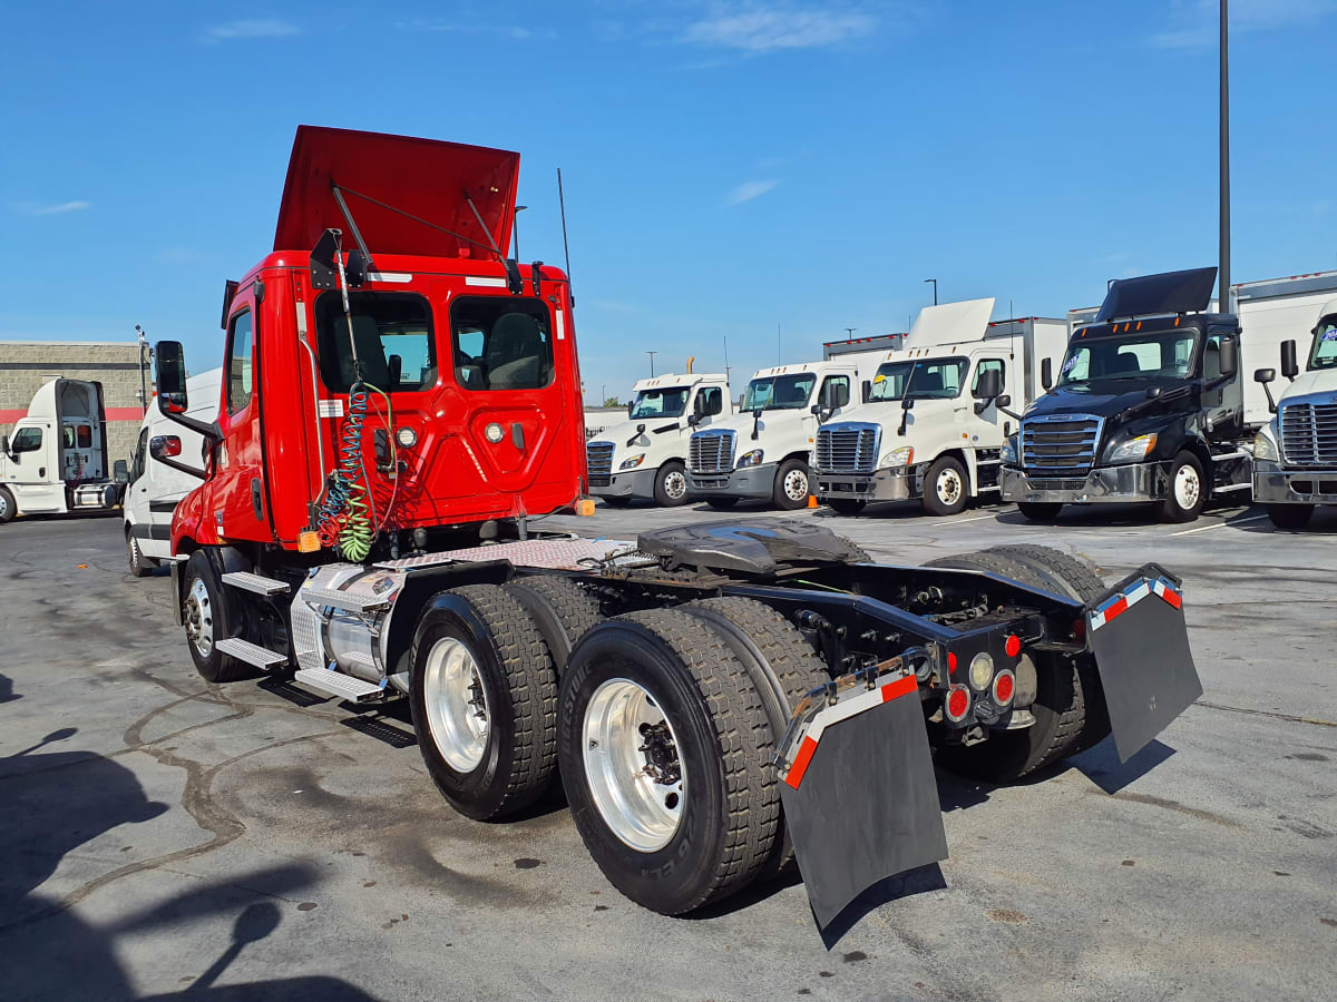
[[[111,477],[100,382],[43,383],[13,432],[0,436],[0,525],[16,514],[115,508],[122,488]]]

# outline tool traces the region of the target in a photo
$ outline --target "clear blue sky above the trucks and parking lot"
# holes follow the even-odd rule
[[[587,395],[1215,263],[1215,0],[45,3],[0,36],[0,339],[221,358],[298,123],[521,154]],[[1337,0],[1231,4],[1234,279],[1337,267]],[[779,329],[777,346],[777,325]]]

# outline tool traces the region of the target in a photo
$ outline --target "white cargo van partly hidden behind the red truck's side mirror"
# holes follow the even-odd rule
[[[214,421],[222,393],[222,369],[213,369],[186,381],[194,406],[187,417]],[[155,449],[156,446],[156,449]],[[182,466],[205,469],[205,440],[195,432],[163,417],[158,407],[144,414],[130,461],[130,485],[126,489],[126,554],[130,573],[144,577],[163,560],[171,558],[171,516],[176,502],[199,485],[199,478],[174,469],[154,452],[175,457]]]

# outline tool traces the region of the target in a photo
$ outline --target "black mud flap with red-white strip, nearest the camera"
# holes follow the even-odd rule
[[[874,669],[876,675],[876,669]],[[834,701],[833,701],[834,700]],[[845,676],[794,711],[781,799],[817,923],[878,880],[947,859],[913,673]]]

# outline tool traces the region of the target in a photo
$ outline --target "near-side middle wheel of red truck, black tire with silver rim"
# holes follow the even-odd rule
[[[476,820],[533,803],[556,767],[558,680],[520,603],[497,585],[441,592],[409,659],[413,729],[441,795]]]

